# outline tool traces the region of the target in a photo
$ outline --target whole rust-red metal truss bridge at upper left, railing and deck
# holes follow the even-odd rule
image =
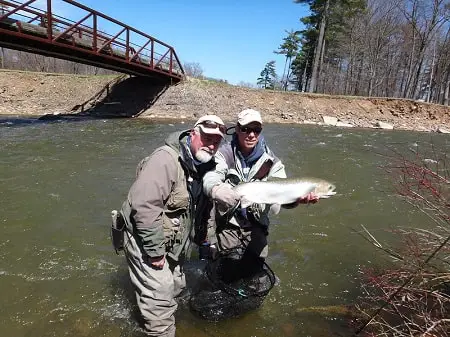
[[[173,47],[72,0],[59,0],[80,15],[56,15],[56,0],[0,0],[0,46],[176,83],[184,70]],[[108,27],[100,29],[99,27]],[[114,31],[107,33],[105,30]]]

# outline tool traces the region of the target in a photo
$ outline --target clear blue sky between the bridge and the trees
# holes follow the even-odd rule
[[[44,2],[38,0],[36,6]],[[53,2],[55,14],[75,21],[85,15],[61,0]],[[277,74],[281,75],[285,58],[273,52],[287,36],[286,31],[304,28],[300,18],[307,16],[309,10],[293,0],[78,2],[171,45],[182,64],[199,63],[204,76],[231,84],[256,84],[261,70],[271,60],[276,61]],[[104,29],[108,33],[117,30]]]

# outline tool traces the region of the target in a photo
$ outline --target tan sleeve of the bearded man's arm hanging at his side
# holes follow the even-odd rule
[[[168,152],[152,154],[129,192],[136,234],[148,256],[165,253],[162,212],[178,176],[178,163]]]

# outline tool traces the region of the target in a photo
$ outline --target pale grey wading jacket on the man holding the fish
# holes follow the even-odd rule
[[[203,190],[208,197],[211,197],[213,187],[222,182],[236,186],[241,182],[265,181],[270,177],[286,178],[283,163],[265,144],[263,136],[260,136],[254,151],[247,158],[241,154],[237,144],[236,136],[233,136],[231,143],[223,144],[217,151],[215,170],[207,172],[203,178]],[[269,207],[258,207],[258,222],[265,226],[269,225]],[[240,227],[250,225],[245,217],[237,213],[228,219],[216,215],[217,226],[225,225],[225,222]]]

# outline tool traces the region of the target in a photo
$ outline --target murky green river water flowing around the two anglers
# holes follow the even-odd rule
[[[0,119],[0,331],[2,336],[142,336],[125,258],[109,239],[137,163],[183,124],[145,120]],[[392,195],[380,165],[400,153],[449,152],[448,135],[267,125],[289,176],[328,179],[338,194],[273,218],[268,263],[279,284],[263,306],[208,322],[186,305],[179,336],[345,336],[335,308],[361,295],[365,267],[387,260],[355,231],[395,242],[393,226],[426,226]]]

